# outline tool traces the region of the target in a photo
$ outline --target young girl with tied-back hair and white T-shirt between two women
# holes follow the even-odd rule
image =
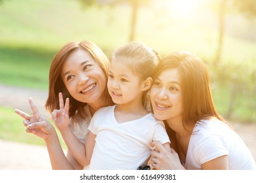
[[[170,150],[163,122],[143,107],[157,64],[158,56],[144,44],[126,44],[113,54],[107,88],[117,105],[94,114],[85,148],[73,154],[79,163],[90,163],[90,169],[137,169],[147,163],[152,141]]]

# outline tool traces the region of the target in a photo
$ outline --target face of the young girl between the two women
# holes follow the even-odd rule
[[[139,76],[135,75],[122,61],[111,62],[107,89],[116,104],[133,103],[137,99],[141,102],[143,84]]]

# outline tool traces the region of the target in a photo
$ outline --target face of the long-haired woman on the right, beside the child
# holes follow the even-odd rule
[[[178,69],[162,71],[153,82],[150,97],[158,120],[181,120],[183,106]]]

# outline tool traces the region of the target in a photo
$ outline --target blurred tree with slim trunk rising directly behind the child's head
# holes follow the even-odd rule
[[[1,1],[1,0],[0,0]],[[82,7],[88,7],[92,5],[109,5],[115,6],[120,5],[121,3],[128,3],[132,8],[132,17],[131,17],[131,25],[130,25],[130,35],[128,41],[132,42],[135,39],[136,35],[136,22],[138,18],[139,7],[142,5],[147,5],[151,2],[151,0],[79,0],[81,2]]]

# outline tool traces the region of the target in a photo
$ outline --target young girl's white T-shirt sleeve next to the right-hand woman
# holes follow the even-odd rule
[[[165,144],[166,142],[170,143],[170,139],[166,133],[166,129],[164,127],[163,122],[156,123],[155,130],[153,133],[153,141],[159,141],[162,144]]]

